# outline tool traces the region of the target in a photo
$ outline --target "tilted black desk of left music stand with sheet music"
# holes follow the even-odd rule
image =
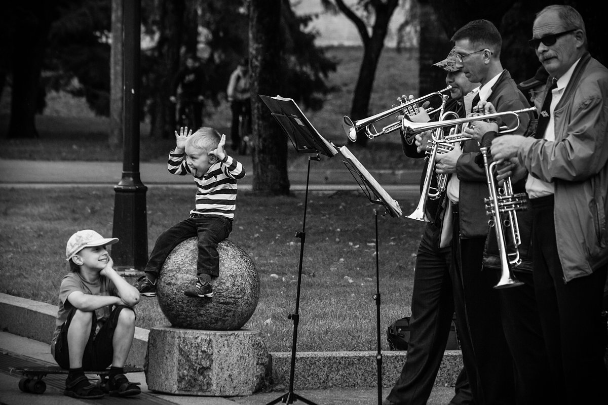
[[[260,98],[268,106],[298,152],[323,152],[328,157],[333,157],[338,153],[333,143],[319,134],[319,131],[314,128],[292,98],[280,95],[276,97],[260,95]]]

